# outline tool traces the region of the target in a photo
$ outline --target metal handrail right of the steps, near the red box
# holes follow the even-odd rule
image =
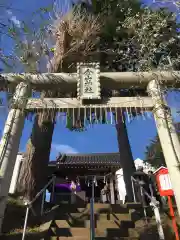
[[[139,183],[139,181],[136,180],[133,176],[131,176],[131,181],[132,181],[132,189],[133,189],[134,201],[136,202],[134,183],[136,183],[140,187],[141,193],[145,194],[148,197],[148,199],[150,200],[150,206],[153,208],[154,216],[155,216],[156,223],[157,223],[159,239],[160,240],[164,240],[165,236],[164,236],[164,231],[163,231],[163,227],[162,227],[161,217],[160,217],[160,213],[159,213],[159,202],[156,200],[156,198],[154,196],[150,196],[149,193]],[[144,208],[144,206],[143,206],[143,208]],[[145,208],[144,208],[144,214],[145,214],[145,217],[146,217]]]

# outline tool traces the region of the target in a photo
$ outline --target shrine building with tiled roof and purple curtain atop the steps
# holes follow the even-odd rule
[[[58,198],[58,201],[67,203],[72,203],[72,181],[77,186],[73,201],[89,202],[93,179],[95,202],[103,202],[102,190],[108,185],[108,202],[115,204],[118,201],[115,173],[120,168],[120,153],[60,154],[56,161],[50,161],[48,165],[49,177],[56,175],[56,200]]]

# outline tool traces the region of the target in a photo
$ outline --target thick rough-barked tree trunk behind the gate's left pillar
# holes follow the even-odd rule
[[[25,159],[20,172],[18,192],[32,200],[47,182],[48,162],[54,130],[55,114],[37,114],[31,137],[26,146]]]

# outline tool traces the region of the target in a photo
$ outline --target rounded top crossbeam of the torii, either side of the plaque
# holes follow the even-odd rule
[[[103,87],[108,89],[129,88],[130,86],[139,86],[146,88],[151,80],[158,80],[165,85],[174,85],[180,87],[180,71],[154,71],[154,72],[101,72],[100,82]],[[17,85],[26,81],[33,88],[43,90],[60,87],[68,92],[76,90],[78,74],[77,73],[42,73],[42,74],[0,74],[0,86],[7,83]]]

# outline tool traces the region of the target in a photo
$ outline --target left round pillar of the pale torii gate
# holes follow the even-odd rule
[[[0,232],[6,207],[9,187],[13,174],[19,143],[24,127],[29,86],[21,82],[17,87],[0,142]]]

